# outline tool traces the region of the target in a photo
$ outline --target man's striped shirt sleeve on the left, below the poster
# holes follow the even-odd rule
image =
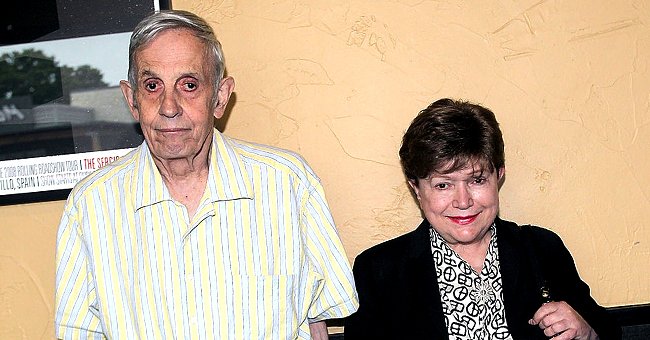
[[[87,248],[73,210],[66,206],[57,234],[56,336],[57,339],[104,339],[95,307]]]

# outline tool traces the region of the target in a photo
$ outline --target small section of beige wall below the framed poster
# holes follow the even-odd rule
[[[0,339],[54,337],[54,245],[63,203],[0,207]]]

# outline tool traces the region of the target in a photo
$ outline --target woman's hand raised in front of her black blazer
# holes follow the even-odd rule
[[[528,320],[553,340],[598,340],[598,335],[578,312],[564,301],[545,303]]]

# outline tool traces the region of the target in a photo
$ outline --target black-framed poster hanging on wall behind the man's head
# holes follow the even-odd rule
[[[21,0],[0,14],[0,205],[65,199],[143,141],[119,81],[167,0]]]

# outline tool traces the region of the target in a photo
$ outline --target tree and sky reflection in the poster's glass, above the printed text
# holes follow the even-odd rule
[[[0,47],[0,161],[142,142],[119,89],[129,33]]]

